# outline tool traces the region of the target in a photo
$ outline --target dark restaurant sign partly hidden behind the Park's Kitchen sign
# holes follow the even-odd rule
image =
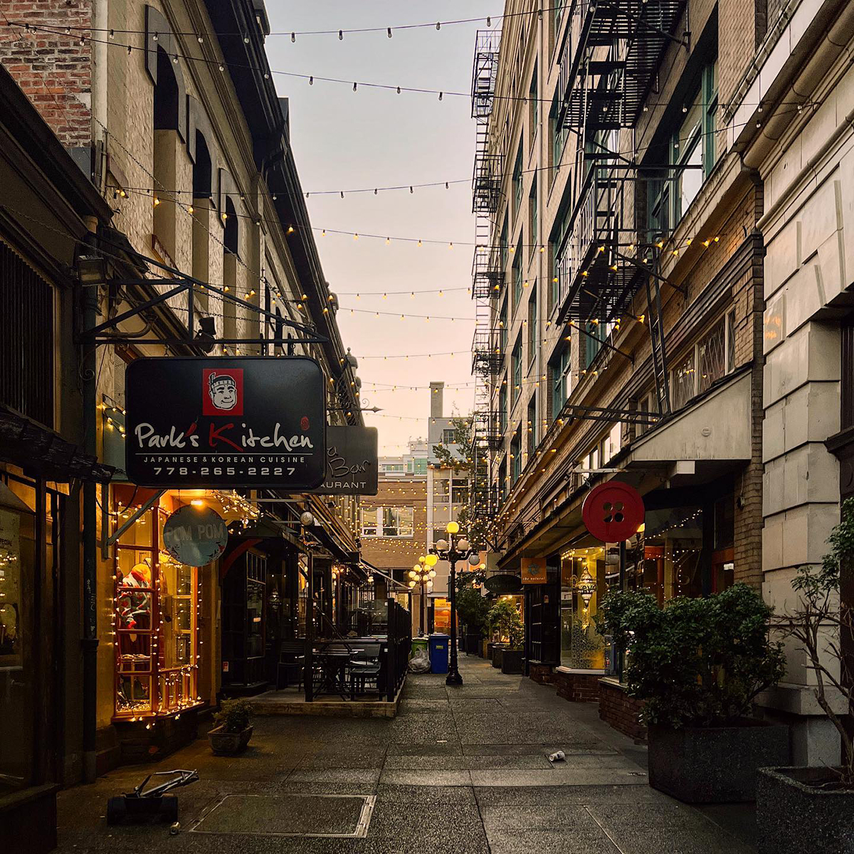
[[[322,495],[376,495],[376,427],[326,427],[326,477],[311,491]]]

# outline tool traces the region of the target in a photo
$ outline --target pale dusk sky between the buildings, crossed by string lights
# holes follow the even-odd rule
[[[266,0],[272,32],[289,33],[268,37],[266,50],[276,71],[468,93],[475,34],[484,21],[439,31],[395,27],[500,15],[503,7],[500,0]],[[366,26],[391,26],[393,36],[383,29],[345,32],[342,40],[337,32],[290,38],[290,32]],[[315,238],[330,290],[339,297],[342,340],[359,360],[363,406],[383,409],[366,412],[366,424],[378,428],[381,454],[404,453],[410,438],[426,436],[430,381],[446,383],[446,415],[470,412],[474,400],[475,304],[466,290],[472,247],[459,245],[473,242],[475,226],[470,99],[443,95],[439,101],[436,94],[398,95],[364,85],[353,91],[351,82],[309,85],[306,79],[273,76],[278,94],[290,99],[291,146],[302,188],[310,194],[312,224],[348,232],[315,231]],[[447,190],[442,183],[409,191],[413,184],[460,179],[464,183]],[[347,192],[399,184],[406,189]],[[325,190],[334,192],[315,195]],[[392,239],[387,244],[366,234]],[[418,239],[424,241],[420,247]],[[418,293],[426,290],[434,292]],[[401,313],[430,319],[401,319]]]

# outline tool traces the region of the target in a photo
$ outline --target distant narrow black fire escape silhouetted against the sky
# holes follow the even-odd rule
[[[489,120],[495,99],[500,30],[480,30],[475,42],[471,75],[471,117],[477,122],[477,145],[471,180],[471,209],[476,215],[475,251],[471,262],[471,296],[475,301],[475,333],[471,342],[471,372],[475,377],[472,418],[474,471],[471,517],[493,518],[498,491],[490,478],[492,454],[501,446],[500,413],[493,406],[493,389],[504,352],[493,330],[494,300],[504,284],[500,252],[491,245],[494,215],[501,201],[504,157],[490,150]]]

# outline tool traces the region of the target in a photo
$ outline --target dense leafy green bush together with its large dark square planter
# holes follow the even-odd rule
[[[750,801],[757,769],[787,761],[788,728],[748,717],[784,673],[770,617],[746,584],[664,608],[646,591],[605,597],[598,629],[628,654],[629,695],[644,701],[650,786],[691,804]]]

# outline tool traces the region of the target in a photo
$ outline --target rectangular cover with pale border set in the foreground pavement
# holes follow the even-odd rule
[[[364,837],[375,795],[226,795],[196,834]]]

